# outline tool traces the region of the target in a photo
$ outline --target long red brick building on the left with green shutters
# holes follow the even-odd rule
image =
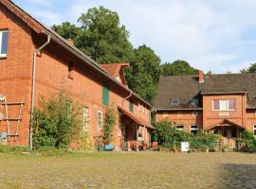
[[[86,125],[82,127],[92,137],[101,135],[106,107],[113,106],[119,112],[113,145],[117,149],[129,146],[138,133],[149,144],[152,107],[128,89],[123,76],[126,66],[100,66],[11,1],[0,0],[2,137],[8,134],[9,144],[28,146],[33,103],[36,106],[42,94],[64,88],[84,106]]]

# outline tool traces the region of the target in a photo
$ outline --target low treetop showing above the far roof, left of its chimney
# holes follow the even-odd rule
[[[187,61],[175,60],[173,63],[161,65],[163,76],[189,76],[198,75],[199,70],[193,68]]]

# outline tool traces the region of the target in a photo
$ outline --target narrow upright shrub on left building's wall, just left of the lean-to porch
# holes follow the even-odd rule
[[[113,129],[116,123],[116,112],[115,109],[107,108],[103,127],[103,143],[108,145],[112,141]]]

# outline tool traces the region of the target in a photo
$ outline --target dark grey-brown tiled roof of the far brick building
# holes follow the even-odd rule
[[[155,96],[155,109],[200,109],[202,94],[242,94],[247,93],[247,108],[256,108],[256,73],[206,75],[204,82],[198,76],[160,77]],[[191,104],[197,97],[199,104]],[[171,99],[179,98],[179,105],[172,105]]]

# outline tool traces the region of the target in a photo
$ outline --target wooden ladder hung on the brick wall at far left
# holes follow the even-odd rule
[[[2,96],[0,98],[0,100],[2,101],[1,105],[5,106],[5,113],[6,116],[3,116],[3,121],[7,122],[7,138],[9,141],[9,137],[15,137],[14,140],[17,140],[17,137],[20,135],[19,133],[19,126],[20,126],[20,121],[22,120],[21,118],[21,113],[23,110],[23,105],[24,103],[24,97],[21,99],[20,102],[8,102],[7,97],[6,96]],[[17,117],[9,117],[9,106],[19,106],[19,112],[18,112],[18,116]],[[16,122],[16,129],[14,133],[10,133],[10,122]]]

